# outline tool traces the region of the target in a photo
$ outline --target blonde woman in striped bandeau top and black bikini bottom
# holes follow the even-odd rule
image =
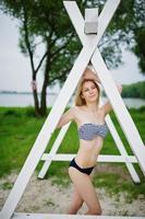
[[[78,128],[80,149],[69,168],[74,184],[74,194],[68,214],[76,214],[85,201],[88,210],[85,215],[101,215],[101,208],[92,183],[92,172],[102,148],[108,128],[106,115],[111,111],[109,102],[99,107],[100,89],[97,76],[86,68],[78,83],[75,106],[62,115],[57,127],[74,120]],[[121,92],[121,87],[118,88]]]

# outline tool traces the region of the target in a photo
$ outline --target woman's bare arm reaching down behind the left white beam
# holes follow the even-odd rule
[[[72,107],[69,111],[67,111],[60,118],[57,128],[60,128],[62,126],[64,126],[65,124],[68,124],[69,122],[75,119],[75,108]]]

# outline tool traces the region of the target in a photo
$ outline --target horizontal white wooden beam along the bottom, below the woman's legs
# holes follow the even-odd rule
[[[145,217],[130,217],[130,219],[144,219]],[[12,219],[129,219],[125,216],[83,216],[58,214],[17,214]]]

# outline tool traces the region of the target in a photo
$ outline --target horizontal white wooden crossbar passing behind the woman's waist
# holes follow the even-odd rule
[[[75,154],[64,154],[64,153],[57,153],[57,154],[49,154],[49,153],[44,153],[41,157],[43,161],[71,161]],[[98,157],[97,162],[117,162],[117,163],[137,163],[137,160],[134,155],[128,155],[128,157],[122,157],[122,155],[106,155],[106,154],[100,154]]]

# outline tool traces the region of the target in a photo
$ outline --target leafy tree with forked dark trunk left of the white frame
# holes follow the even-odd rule
[[[17,18],[20,24],[20,47],[29,57],[32,67],[32,88],[36,115],[46,114],[46,90],[55,80],[65,80],[71,64],[80,49],[78,43],[71,30],[69,18],[64,13],[61,1],[1,1],[1,10]],[[39,14],[39,16],[38,16]],[[38,41],[40,41],[38,43]],[[45,53],[38,65],[34,58],[38,44],[45,45]],[[45,61],[45,64],[44,64]],[[44,70],[44,83],[40,102],[38,101],[37,73]]]

